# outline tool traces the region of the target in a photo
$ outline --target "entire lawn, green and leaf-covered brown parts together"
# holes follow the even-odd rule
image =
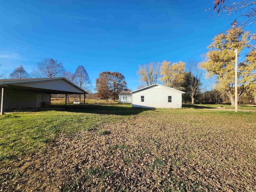
[[[2,191],[256,190],[255,112],[89,105],[0,124]]]

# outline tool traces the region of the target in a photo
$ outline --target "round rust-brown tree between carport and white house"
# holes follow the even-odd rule
[[[108,100],[112,97],[115,101],[118,94],[128,88],[122,73],[105,71],[99,74],[99,78],[96,78],[95,90],[100,98]]]

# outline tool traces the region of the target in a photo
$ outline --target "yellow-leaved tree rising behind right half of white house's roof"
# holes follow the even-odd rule
[[[170,61],[163,61],[160,66],[162,84],[177,90],[184,90],[185,63],[180,61],[171,65]]]

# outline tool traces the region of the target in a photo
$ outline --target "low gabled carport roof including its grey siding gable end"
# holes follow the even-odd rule
[[[64,82],[63,82],[64,81]],[[59,83],[62,82],[60,87]],[[47,86],[48,84],[51,86]],[[66,83],[66,84],[65,84]],[[41,86],[40,84],[44,84]],[[56,88],[54,88],[56,85]],[[66,85],[66,86],[65,86]],[[48,90],[49,93],[59,92],[67,94],[88,94],[85,90],[72,83],[65,77],[55,77],[55,78],[30,78],[30,79],[0,79],[0,86],[6,86],[7,88],[19,90]],[[57,88],[58,87],[58,88]],[[65,87],[65,88],[64,88]]]

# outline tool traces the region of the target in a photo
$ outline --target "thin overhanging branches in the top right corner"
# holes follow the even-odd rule
[[[224,3],[225,0],[215,0],[214,3],[214,10],[218,7],[218,14],[220,13],[228,13],[231,14],[238,14],[241,21],[234,22],[232,25],[238,24],[238,26],[248,26],[256,22],[256,1],[251,0],[239,0],[237,2],[232,2],[231,4]]]

